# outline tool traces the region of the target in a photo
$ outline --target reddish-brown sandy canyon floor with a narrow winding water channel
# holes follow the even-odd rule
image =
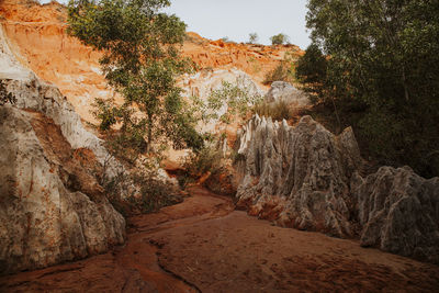
[[[439,267],[353,240],[272,226],[192,188],[128,219],[126,245],[8,275],[0,292],[438,292]]]

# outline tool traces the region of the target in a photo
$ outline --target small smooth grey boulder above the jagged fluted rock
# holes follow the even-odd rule
[[[266,101],[269,103],[284,102],[285,104],[293,104],[295,106],[309,104],[309,100],[303,91],[297,90],[285,81],[272,82],[266,95]]]

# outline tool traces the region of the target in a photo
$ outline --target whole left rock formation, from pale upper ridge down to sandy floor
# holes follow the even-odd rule
[[[16,98],[0,106],[0,274],[122,244],[125,221],[94,172],[111,177],[123,167],[57,88],[20,65],[1,26],[0,65],[0,79]]]

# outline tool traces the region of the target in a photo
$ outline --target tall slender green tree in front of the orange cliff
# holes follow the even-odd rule
[[[68,4],[68,32],[103,53],[100,64],[105,78],[124,98],[122,105],[97,100],[100,127],[122,123],[122,136],[139,140],[148,153],[153,142],[164,137],[177,147],[200,147],[176,86],[176,78],[191,65],[180,57],[185,24],[159,12],[168,5],[168,0],[71,0]]]

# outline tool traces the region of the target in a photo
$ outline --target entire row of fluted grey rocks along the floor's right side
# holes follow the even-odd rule
[[[255,116],[238,154],[238,206],[251,215],[439,263],[439,178],[382,167],[363,179],[351,128],[335,136],[309,116],[294,127]]]

